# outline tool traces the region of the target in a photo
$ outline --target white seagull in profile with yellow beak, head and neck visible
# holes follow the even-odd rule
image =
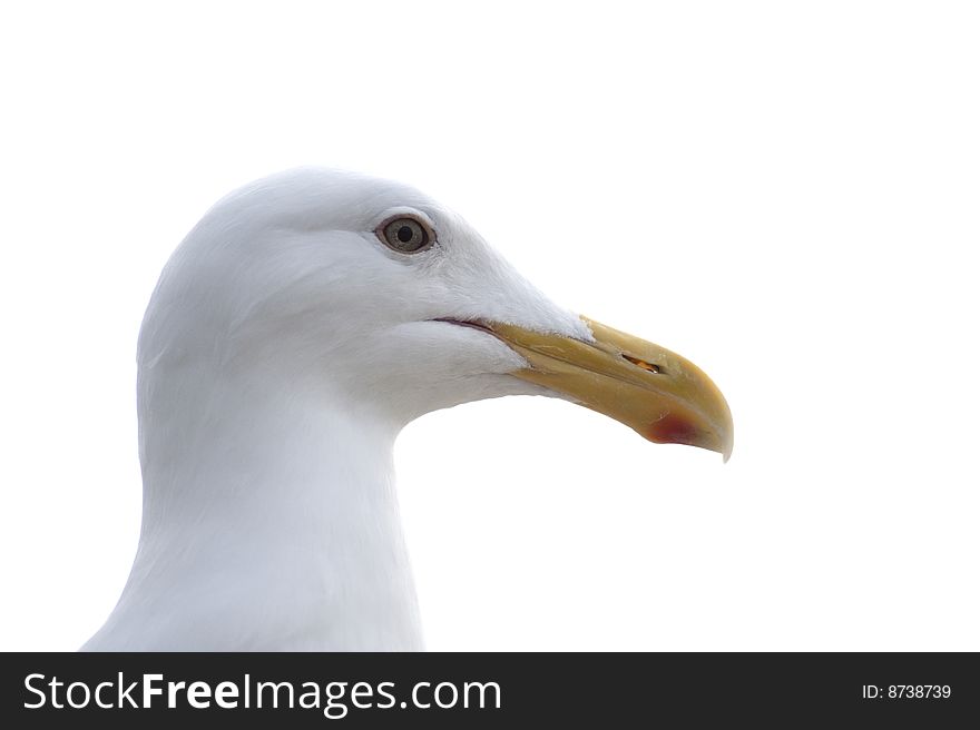
[[[392,450],[431,411],[543,395],[733,444],[694,364],[556,305],[422,193],[332,169],[205,214],[137,365],[139,545],[82,651],[422,650]]]

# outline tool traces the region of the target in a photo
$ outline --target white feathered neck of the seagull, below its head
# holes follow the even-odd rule
[[[156,648],[420,648],[398,427],[268,382],[141,401],[143,529],[116,612],[150,616]]]

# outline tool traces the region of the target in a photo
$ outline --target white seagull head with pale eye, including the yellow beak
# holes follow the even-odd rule
[[[138,358],[141,382],[158,368],[257,373],[394,428],[533,394],[653,442],[732,451],[728,406],[694,364],[558,306],[418,190],[334,170],[283,172],[215,205],[164,269]]]

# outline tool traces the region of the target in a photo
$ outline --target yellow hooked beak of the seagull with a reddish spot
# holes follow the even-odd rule
[[[570,396],[658,444],[732,454],[732,412],[694,363],[659,345],[582,317],[591,343],[497,323],[484,326],[522,355],[514,376]]]

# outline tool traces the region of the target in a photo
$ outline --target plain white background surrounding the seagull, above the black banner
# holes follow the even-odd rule
[[[410,425],[429,648],[980,650],[976,6],[12,4],[0,648],[118,598],[167,256],[322,164],[454,207],[735,417],[727,465],[543,398]]]

